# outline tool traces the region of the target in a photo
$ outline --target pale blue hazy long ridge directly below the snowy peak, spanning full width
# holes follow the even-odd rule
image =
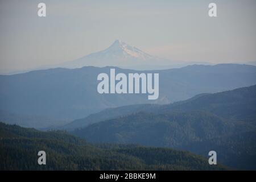
[[[110,68],[55,68],[0,76],[0,110],[7,111],[7,115],[13,114],[11,123],[15,122],[15,117],[22,121],[20,118],[24,115],[40,118],[31,125],[28,119],[26,125],[19,122],[21,126],[40,128],[46,127],[41,118],[48,118],[51,120],[50,125],[55,125],[60,124],[60,121],[65,123],[84,118],[109,107],[168,104],[200,93],[221,92],[256,84],[256,67],[251,65],[191,65],[178,69],[143,71],[159,73],[159,99],[149,101],[146,94],[99,94],[97,75],[109,73]],[[117,67],[115,71],[142,73]],[[0,119],[9,121],[7,117],[2,113]]]

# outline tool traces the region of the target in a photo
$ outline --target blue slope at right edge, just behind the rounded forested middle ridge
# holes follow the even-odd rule
[[[208,111],[220,117],[255,123],[256,85],[232,91],[204,94],[187,101],[160,107],[160,112],[168,111]]]

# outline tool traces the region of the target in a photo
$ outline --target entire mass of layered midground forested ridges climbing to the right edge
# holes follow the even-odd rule
[[[66,128],[80,125],[72,133],[89,142],[171,147],[200,155],[215,150],[226,166],[256,169],[255,121],[256,85],[168,105],[108,109]]]

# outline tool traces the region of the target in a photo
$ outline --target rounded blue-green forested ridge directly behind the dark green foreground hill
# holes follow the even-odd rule
[[[137,113],[98,122],[74,133],[90,142],[178,147],[236,131],[228,125],[221,118],[203,112]]]

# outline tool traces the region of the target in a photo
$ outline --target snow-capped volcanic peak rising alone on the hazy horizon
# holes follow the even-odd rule
[[[203,62],[171,61],[149,55],[140,49],[130,46],[121,40],[115,42],[103,51],[91,53],[77,60],[56,65],[61,68],[81,68],[85,66],[106,67],[114,66],[125,69],[170,69],[180,68],[191,64],[209,64]]]

